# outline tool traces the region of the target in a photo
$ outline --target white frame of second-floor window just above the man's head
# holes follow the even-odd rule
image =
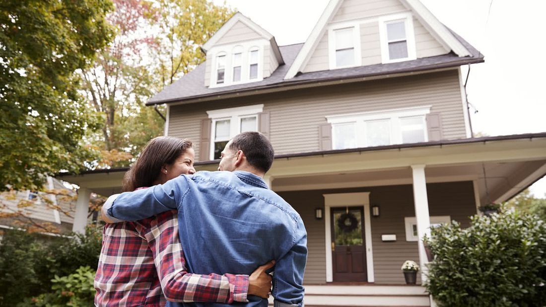
[[[216,122],[229,119],[229,139],[241,132],[241,119],[248,117],[256,117],[256,131],[258,131],[258,113],[264,110],[263,104],[247,105],[246,107],[227,108],[206,111],[209,119],[212,121],[210,135],[210,160],[214,159],[214,143],[216,141]],[[227,140],[229,140],[227,139]]]

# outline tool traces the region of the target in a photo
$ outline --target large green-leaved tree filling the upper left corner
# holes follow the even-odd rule
[[[75,72],[111,39],[108,0],[0,2],[0,191],[40,190],[46,175],[78,172],[97,128]]]

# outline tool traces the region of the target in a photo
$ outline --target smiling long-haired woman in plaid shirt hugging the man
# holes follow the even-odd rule
[[[191,141],[152,139],[126,173],[123,190],[134,191],[193,174]],[[97,306],[163,306],[173,302],[247,302],[247,294],[268,297],[271,277],[259,267],[250,276],[187,273],[176,211],[137,222],[104,227],[94,287]]]

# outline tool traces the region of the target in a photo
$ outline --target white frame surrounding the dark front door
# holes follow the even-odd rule
[[[366,269],[368,282],[373,278],[372,227],[370,217],[370,192],[322,194],[324,196],[324,231],[326,247],[326,281],[334,281],[332,265],[332,233],[330,208],[346,206],[362,206],[364,209],[364,236],[366,241]]]

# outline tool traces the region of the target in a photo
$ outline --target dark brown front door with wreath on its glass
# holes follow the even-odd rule
[[[332,208],[333,281],[367,281],[362,207]]]

